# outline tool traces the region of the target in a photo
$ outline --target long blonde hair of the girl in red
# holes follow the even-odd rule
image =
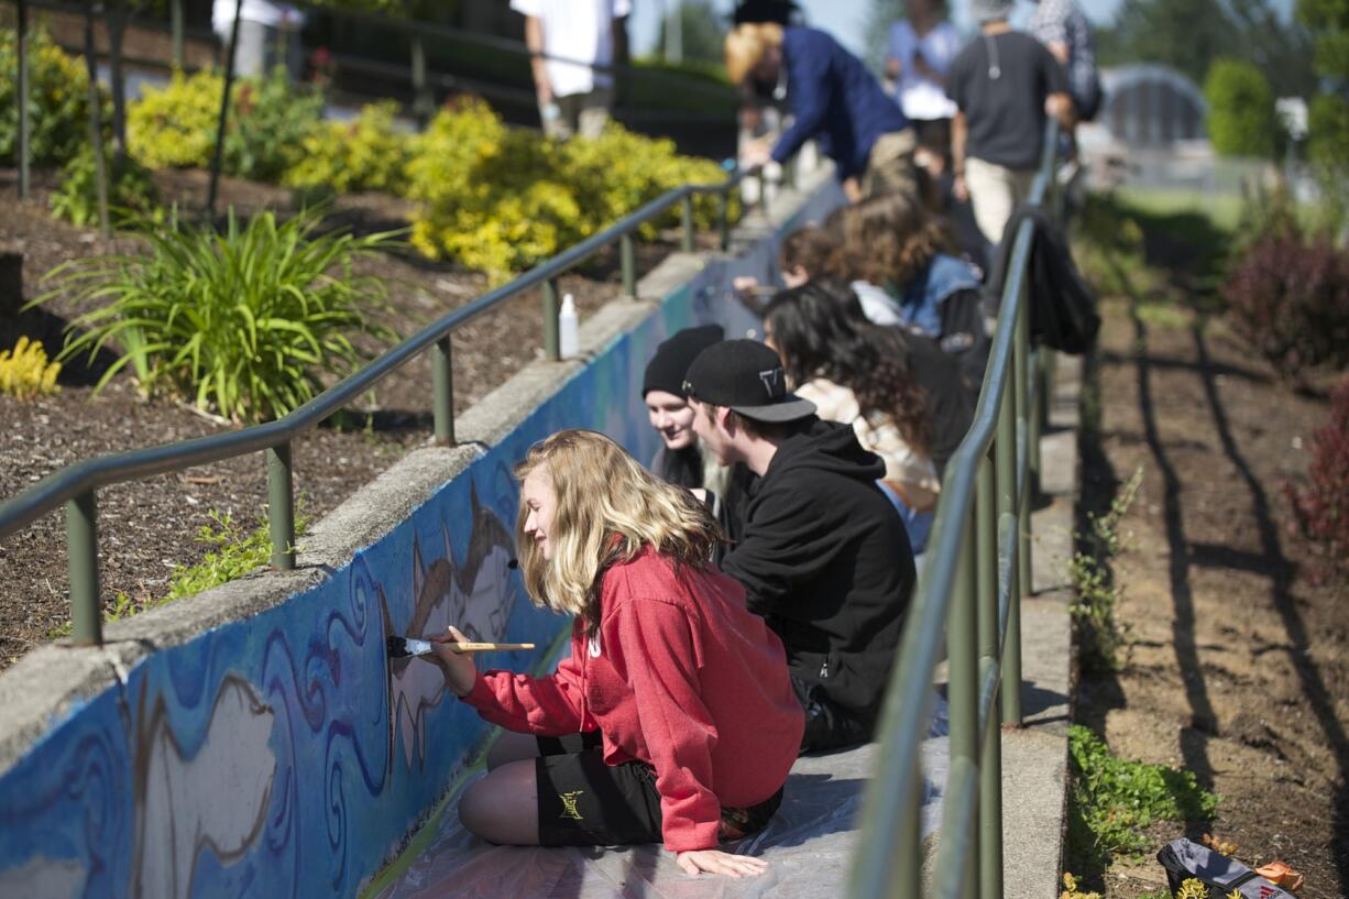
[[[600,578],[618,563],[653,547],[679,566],[701,567],[722,529],[693,494],[668,485],[622,447],[595,431],[558,431],[530,447],[515,466],[525,481],[544,468],[556,494],[548,541],[552,559],[525,533],[529,508],[521,498],[515,541],[525,590],[537,606],[580,616],[599,628]]]

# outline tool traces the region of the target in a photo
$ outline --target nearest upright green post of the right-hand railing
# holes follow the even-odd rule
[[[947,616],[947,686],[946,695],[951,726],[951,769],[963,759],[969,765],[979,761],[979,663],[975,656],[975,636],[978,633],[978,587],[977,559],[974,551],[974,520],[966,513],[960,522],[960,559],[955,568],[955,584],[951,593],[951,610]],[[978,834],[971,834],[978,842]],[[978,867],[978,859],[970,864]],[[973,896],[978,883],[978,872],[966,877],[963,896]]]

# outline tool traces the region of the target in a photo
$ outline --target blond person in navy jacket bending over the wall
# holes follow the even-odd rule
[[[772,22],[745,23],[726,36],[731,84],[778,84],[795,121],[769,148],[746,144],[741,162],[784,162],[809,139],[838,166],[849,200],[884,193],[917,193],[909,120],[881,84],[851,53],[816,28]]]

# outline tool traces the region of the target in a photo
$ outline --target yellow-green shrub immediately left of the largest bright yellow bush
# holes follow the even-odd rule
[[[325,121],[304,139],[304,151],[282,184],[337,193],[407,190],[413,138],[394,128],[393,100],[363,107],[355,121]]]

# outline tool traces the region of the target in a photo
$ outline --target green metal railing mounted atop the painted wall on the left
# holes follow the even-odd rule
[[[532,288],[541,288],[544,302],[544,347],[549,360],[558,354],[557,279],[596,252],[619,244],[623,294],[637,296],[637,252],[634,232],[676,205],[683,227],[681,246],[695,246],[693,198],[716,194],[718,228],[723,250],[730,243],[730,196],[747,177],[759,181],[764,198],[764,174],[759,169],[741,169],[726,181],[710,185],[684,185],[626,216],[575,247],[538,265],[515,281],[478,297],[472,302],[437,319],[415,335],[387,350],[368,366],[356,371],[289,414],[266,424],[163,444],[116,455],[97,456],[71,463],[47,475],[23,493],[0,503],[0,539],[36,518],[65,506],[66,553],[70,570],[71,643],[103,644],[103,616],[98,598],[98,503],[97,491],[115,483],[144,481],[155,475],[181,471],[193,466],[262,452],[267,468],[267,518],[271,536],[271,564],[278,570],[295,567],[294,487],[291,485],[291,441],[352,402],[394,370],[411,362],[424,351],[432,354],[432,402],[436,440],[455,443],[455,393],[451,335],[478,316]]]

